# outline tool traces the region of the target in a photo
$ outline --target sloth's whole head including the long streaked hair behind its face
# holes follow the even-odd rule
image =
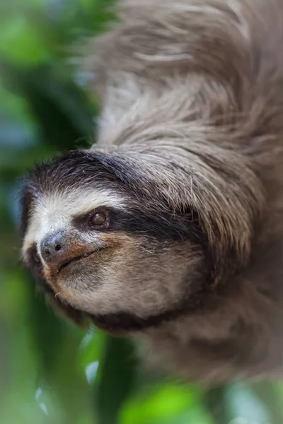
[[[229,187],[230,166],[215,189],[213,167],[199,163],[193,177],[177,162],[153,153],[71,151],[25,179],[23,260],[75,321],[86,314],[120,333],[158,325],[198,307],[246,260],[253,176],[236,159],[243,184]]]

